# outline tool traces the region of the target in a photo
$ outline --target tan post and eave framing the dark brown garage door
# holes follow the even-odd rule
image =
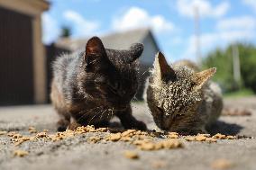
[[[45,103],[46,67],[45,51],[41,42],[41,13],[49,8],[49,4],[43,0],[0,0],[0,6],[32,18],[32,45],[29,48],[32,49],[33,100],[34,103]],[[18,31],[19,25],[16,29]]]

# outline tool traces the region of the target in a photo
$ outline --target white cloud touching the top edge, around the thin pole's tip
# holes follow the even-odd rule
[[[227,13],[230,4],[226,1],[221,4],[213,5],[207,0],[178,0],[178,13],[193,18],[197,7],[200,17],[221,17]]]

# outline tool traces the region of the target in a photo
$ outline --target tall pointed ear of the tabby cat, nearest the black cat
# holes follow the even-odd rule
[[[161,80],[164,80],[166,82],[168,82],[169,80],[176,80],[177,77],[175,71],[171,67],[169,67],[166,58],[161,52],[158,52],[155,58],[154,67],[159,74]]]

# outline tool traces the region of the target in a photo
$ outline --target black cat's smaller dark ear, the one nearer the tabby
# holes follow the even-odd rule
[[[134,43],[128,50],[129,55],[128,62],[133,63],[137,58],[140,58],[143,52],[144,46],[142,43]]]

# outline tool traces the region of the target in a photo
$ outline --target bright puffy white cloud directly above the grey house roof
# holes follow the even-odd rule
[[[151,16],[147,11],[139,7],[131,7],[122,16],[114,19],[113,28],[117,31],[125,31],[140,27],[151,27],[153,31],[173,31],[174,24],[167,21],[162,15]]]

